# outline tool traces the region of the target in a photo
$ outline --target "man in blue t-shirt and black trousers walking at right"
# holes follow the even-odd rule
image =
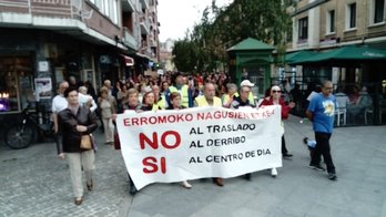
[[[322,93],[311,99],[306,111],[306,116],[313,123],[315,132],[316,146],[312,155],[309,167],[324,172],[321,165],[321,157],[327,166],[328,178],[336,180],[336,170],[331,155],[329,138],[334,128],[334,114],[336,108],[336,100],[333,93],[333,82],[325,81],[322,84]]]

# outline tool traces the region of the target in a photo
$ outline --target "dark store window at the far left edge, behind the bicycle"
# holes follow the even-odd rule
[[[0,114],[19,112],[33,99],[29,56],[0,56]]]

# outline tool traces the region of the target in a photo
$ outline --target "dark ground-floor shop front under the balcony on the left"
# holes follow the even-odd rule
[[[12,35],[12,37],[10,37]],[[43,30],[2,29],[0,35],[0,122],[13,118],[28,104],[50,112],[57,86],[70,76],[77,85],[122,74],[114,46]],[[110,62],[103,61],[109,56]],[[103,72],[103,75],[102,75]]]

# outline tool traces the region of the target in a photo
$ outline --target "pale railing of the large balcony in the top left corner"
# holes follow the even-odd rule
[[[39,17],[90,19],[92,10],[83,10],[84,0],[0,0],[0,12],[28,13]]]

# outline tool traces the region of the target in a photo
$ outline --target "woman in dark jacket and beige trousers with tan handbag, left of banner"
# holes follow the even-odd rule
[[[59,158],[68,158],[71,174],[71,183],[75,196],[75,205],[82,204],[83,185],[82,169],[85,173],[87,187],[93,188],[92,174],[94,169],[94,151],[91,147],[90,134],[96,130],[96,116],[87,106],[80,106],[78,90],[69,87],[64,91],[68,107],[58,114],[62,144],[58,148]],[[89,147],[81,147],[82,141],[88,138]]]

